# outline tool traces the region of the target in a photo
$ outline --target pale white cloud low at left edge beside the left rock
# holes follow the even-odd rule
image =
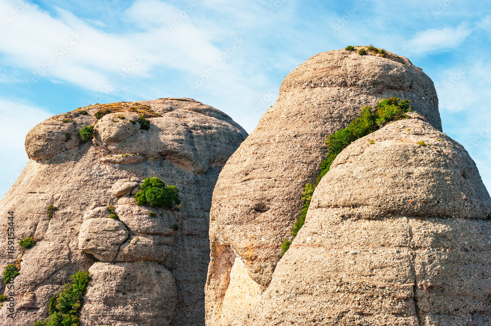
[[[52,116],[44,109],[0,99],[0,197],[12,186],[28,162],[24,142],[29,130]]]

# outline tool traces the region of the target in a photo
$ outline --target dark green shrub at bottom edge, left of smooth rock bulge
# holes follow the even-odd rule
[[[70,277],[72,282],[65,284],[59,296],[50,299],[50,317],[44,321],[37,321],[38,326],[78,326],[80,323],[80,309],[83,296],[90,280],[89,272],[79,271]]]

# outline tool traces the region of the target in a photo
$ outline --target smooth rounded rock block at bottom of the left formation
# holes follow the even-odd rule
[[[168,326],[177,302],[172,273],[157,263],[109,264],[89,269],[92,279],[81,326]]]

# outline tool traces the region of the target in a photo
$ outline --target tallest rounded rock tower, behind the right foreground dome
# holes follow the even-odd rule
[[[237,280],[248,277],[264,291],[302,208],[302,190],[319,173],[324,140],[346,128],[363,106],[392,96],[411,100],[414,111],[441,129],[433,82],[406,58],[330,51],[285,78],[276,103],[229,159],[214,191],[205,289],[209,325],[228,325],[219,321],[222,305],[234,304],[224,301],[227,289],[238,286],[230,277],[229,252],[246,266]],[[256,287],[250,289],[243,296],[258,300]]]

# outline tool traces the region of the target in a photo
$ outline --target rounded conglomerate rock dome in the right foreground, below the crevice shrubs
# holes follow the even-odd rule
[[[268,289],[230,325],[491,323],[490,195],[462,145],[411,115],[338,155]]]

